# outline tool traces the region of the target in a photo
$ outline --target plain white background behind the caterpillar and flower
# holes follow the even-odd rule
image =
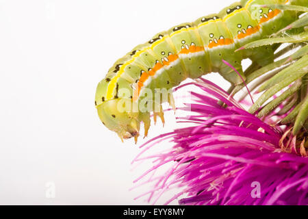
[[[146,204],[133,198],[149,188],[129,191],[143,141],[122,143],[101,124],[97,83],[155,33],[232,2],[0,1],[0,204]],[[167,117],[149,138],[175,127]]]

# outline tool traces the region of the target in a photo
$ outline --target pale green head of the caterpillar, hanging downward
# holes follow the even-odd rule
[[[105,101],[97,105],[97,112],[102,123],[110,130],[115,131],[120,139],[135,138],[140,135],[140,122],[144,122],[144,136],[150,126],[150,116],[139,112],[126,112],[119,107],[121,99]]]

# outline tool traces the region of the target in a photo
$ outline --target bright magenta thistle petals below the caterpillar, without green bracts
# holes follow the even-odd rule
[[[273,115],[285,114],[272,112],[261,120],[205,79],[183,86],[188,85],[202,92],[192,92],[196,103],[180,109],[191,115],[179,122],[193,125],[146,142],[134,160],[154,159],[153,168],[136,179],[153,183],[149,202],[179,188],[166,204],[178,199],[182,205],[308,205],[307,132],[293,136],[291,127],[272,125]],[[142,157],[162,140],[173,142],[172,148]],[[166,164],[171,168],[157,175]]]

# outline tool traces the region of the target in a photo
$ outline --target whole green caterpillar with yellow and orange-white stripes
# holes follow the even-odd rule
[[[141,122],[147,136],[151,112],[155,121],[159,116],[164,123],[161,104],[168,101],[174,107],[172,94],[159,101],[154,98],[161,95],[158,88],[170,90],[188,77],[196,79],[211,72],[218,72],[236,86],[245,79],[243,59],[249,58],[259,66],[272,62],[273,46],[235,52],[248,42],[267,38],[298,18],[294,11],[260,6],[264,4],[307,6],[308,0],[242,0],[218,14],[156,34],[117,60],[99,82],[95,106],[102,123],[122,141],[132,137],[137,140]],[[239,75],[222,60],[232,64]],[[140,103],[150,110],[140,110]],[[137,110],[133,110],[135,105]]]

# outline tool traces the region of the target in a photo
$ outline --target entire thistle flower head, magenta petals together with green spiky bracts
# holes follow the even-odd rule
[[[290,5],[279,7],[294,10]],[[144,149],[134,162],[153,159],[154,166],[136,179],[143,179],[142,184],[153,183],[152,190],[140,196],[149,195],[148,201],[155,204],[167,190],[178,188],[181,192],[166,204],[178,199],[183,205],[308,205],[305,26],[304,14],[269,38],[240,47],[237,51],[272,47],[277,51],[275,62],[251,64],[244,72],[246,80],[229,92],[205,79],[183,85],[202,90],[191,92],[196,103],[179,109],[190,114],[179,118],[179,123],[192,126],[162,134],[141,146]],[[289,44],[277,50],[284,43]],[[294,48],[298,50],[285,57]],[[247,85],[251,90],[257,88],[256,96],[251,97],[256,101],[235,101],[231,96]],[[163,140],[172,142],[172,147],[145,155]],[[164,172],[166,165],[170,168]],[[162,175],[157,174],[159,170]]]

